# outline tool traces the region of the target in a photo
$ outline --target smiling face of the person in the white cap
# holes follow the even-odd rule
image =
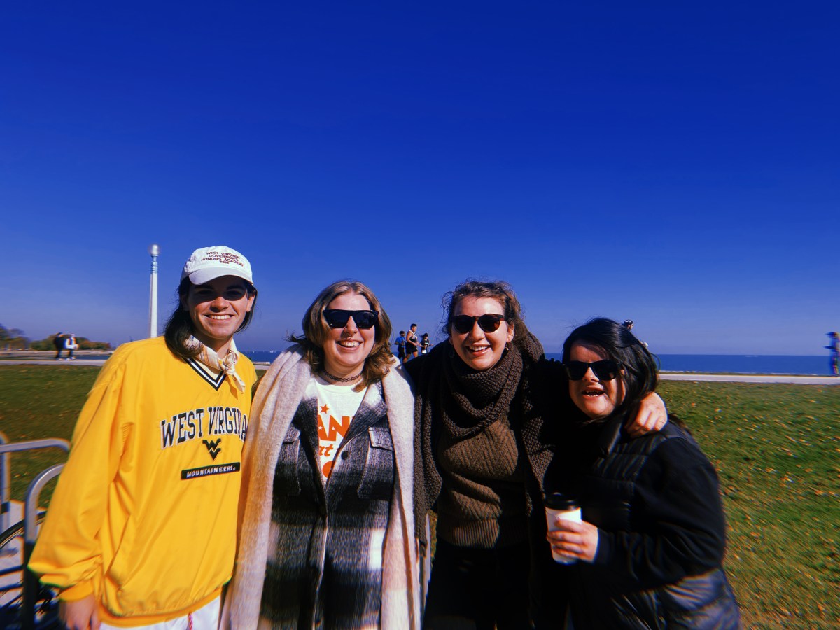
[[[221,276],[202,285],[190,285],[181,306],[190,313],[193,336],[224,356],[245,313],[254,306],[254,298],[242,278]]]

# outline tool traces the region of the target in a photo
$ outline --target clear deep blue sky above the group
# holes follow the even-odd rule
[[[192,249],[249,257],[244,349],[329,282],[434,333],[512,283],[549,352],[824,354],[840,328],[837,3],[11,3],[0,323],[146,335]],[[433,334],[434,337],[434,334]]]

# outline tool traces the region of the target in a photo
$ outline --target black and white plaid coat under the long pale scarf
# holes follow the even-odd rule
[[[394,487],[394,447],[381,386],[372,385],[336,453],[318,470],[318,401],[304,399],[274,478],[260,617],[274,627],[378,627],[382,543]]]

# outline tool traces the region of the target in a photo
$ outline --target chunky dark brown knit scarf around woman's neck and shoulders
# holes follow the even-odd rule
[[[414,515],[421,542],[428,542],[426,512],[437,501],[442,485],[434,458],[438,437],[446,432],[468,438],[503,414],[518,433],[517,421],[526,410],[533,409],[530,396],[523,395],[528,390],[528,371],[541,357],[543,346],[525,330],[519,335],[519,343],[511,344],[489,370],[472,370],[454,353],[451,344],[438,344],[429,354],[406,364],[416,386]]]

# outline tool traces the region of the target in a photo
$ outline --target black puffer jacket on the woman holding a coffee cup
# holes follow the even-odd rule
[[[714,468],[677,423],[629,439],[625,421],[580,428],[577,444],[594,449],[558,477],[599,529],[592,564],[559,566],[575,630],[740,627]]]

